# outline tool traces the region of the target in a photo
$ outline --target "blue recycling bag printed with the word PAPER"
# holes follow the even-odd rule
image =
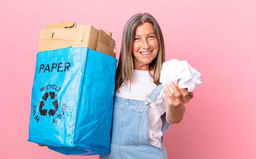
[[[116,65],[87,47],[38,52],[28,141],[65,155],[109,153]]]

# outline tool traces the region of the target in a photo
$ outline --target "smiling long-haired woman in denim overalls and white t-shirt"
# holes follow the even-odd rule
[[[163,135],[179,123],[193,92],[159,83],[165,61],[162,31],[153,16],[126,23],[116,72],[110,153],[100,159],[167,159]],[[163,91],[164,88],[164,91]]]

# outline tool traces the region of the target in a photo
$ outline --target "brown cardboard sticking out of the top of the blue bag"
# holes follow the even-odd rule
[[[116,57],[115,40],[109,31],[96,29],[92,25],[75,22],[48,24],[40,31],[39,52],[65,47],[88,47],[89,49]]]

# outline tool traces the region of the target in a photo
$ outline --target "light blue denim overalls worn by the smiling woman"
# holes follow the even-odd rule
[[[114,97],[114,110],[111,129],[110,153],[100,159],[167,159],[163,145],[157,148],[148,141],[148,109],[161,92],[162,84],[157,85],[147,96],[146,101]],[[161,116],[163,134],[169,127],[165,113]]]

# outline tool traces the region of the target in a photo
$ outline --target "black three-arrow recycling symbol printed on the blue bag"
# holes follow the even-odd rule
[[[44,101],[46,101],[49,96],[51,97],[50,100],[54,100],[56,98],[56,95],[54,92],[46,92],[43,95],[42,99]],[[47,115],[47,109],[43,109],[43,106],[45,105],[44,101],[39,101],[39,103],[38,103],[39,112],[41,115]],[[58,110],[58,100],[53,101],[52,105],[53,105],[54,109],[50,108],[50,110],[48,112],[49,116],[54,115],[56,113],[56,111]]]

